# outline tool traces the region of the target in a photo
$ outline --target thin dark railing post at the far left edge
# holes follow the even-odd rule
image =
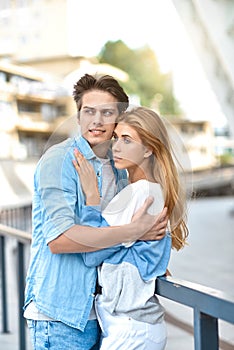
[[[1,289],[2,289],[2,332],[8,333],[7,317],[7,288],[6,288],[6,254],[5,254],[5,237],[0,236],[1,249]]]

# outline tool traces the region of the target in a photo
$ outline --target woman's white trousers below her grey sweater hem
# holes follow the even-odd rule
[[[167,340],[165,322],[155,325],[126,316],[112,316],[96,303],[102,329],[100,350],[164,350]]]

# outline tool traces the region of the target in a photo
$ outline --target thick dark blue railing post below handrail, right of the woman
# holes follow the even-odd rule
[[[194,349],[218,350],[218,320],[194,309]]]

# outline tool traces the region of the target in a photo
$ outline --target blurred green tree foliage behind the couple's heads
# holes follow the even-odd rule
[[[129,75],[121,82],[128,94],[138,95],[143,106],[162,114],[180,114],[173,96],[171,74],[162,74],[155,53],[148,47],[130,49],[123,41],[108,41],[98,55],[100,63],[118,67]]]

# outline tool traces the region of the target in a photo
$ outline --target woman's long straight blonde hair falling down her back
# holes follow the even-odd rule
[[[146,107],[137,107],[122,113],[116,122],[123,122],[134,128],[142,143],[152,151],[152,173],[155,181],[162,187],[165,206],[168,208],[172,247],[180,250],[186,244],[188,236],[186,191],[180,183],[176,158],[165,124],[157,113]]]

